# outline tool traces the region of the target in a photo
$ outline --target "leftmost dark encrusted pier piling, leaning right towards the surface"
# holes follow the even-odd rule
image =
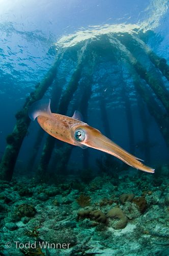
[[[18,111],[18,113],[16,113],[16,124],[14,126],[13,132],[7,136],[7,145],[0,163],[0,178],[2,180],[10,181],[12,179],[14,167],[23,139],[26,136],[27,129],[31,123],[31,119],[28,115],[29,107],[33,102],[43,97],[46,90],[53,82],[60,63],[61,55],[58,55],[53,66],[47,72],[44,79],[37,84],[35,91],[26,98],[23,108]]]

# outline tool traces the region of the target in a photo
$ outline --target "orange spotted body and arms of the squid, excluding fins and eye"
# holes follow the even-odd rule
[[[50,115],[45,114],[45,116],[39,115],[38,123],[43,130],[54,138],[72,145],[95,148],[96,150],[103,151],[121,159],[123,162],[136,169],[143,170],[148,173],[154,173],[153,168],[144,165],[139,161],[140,159],[123,150],[123,148],[109,140],[107,137],[102,135],[100,131],[89,126],[87,123],[54,113],[51,113]],[[75,131],[79,130],[82,130],[85,133],[85,139],[80,142],[76,141],[74,137]]]

